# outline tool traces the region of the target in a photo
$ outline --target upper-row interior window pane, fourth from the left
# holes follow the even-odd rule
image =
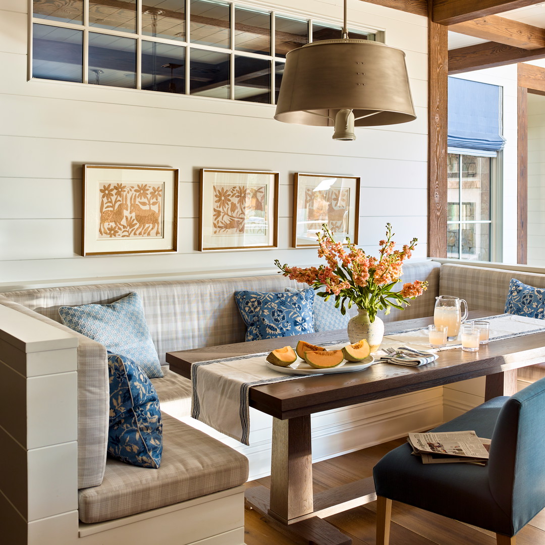
[[[231,47],[229,4],[191,0],[190,39],[194,44]]]

